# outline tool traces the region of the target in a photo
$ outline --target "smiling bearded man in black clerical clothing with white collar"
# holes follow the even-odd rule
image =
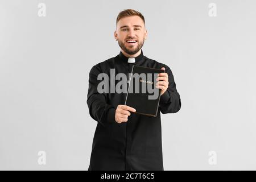
[[[90,116],[98,122],[89,170],[163,170],[160,111],[176,113],[181,107],[174,76],[167,65],[143,55],[147,30],[138,11],[128,9],[118,14],[114,38],[121,47],[119,55],[94,65],[89,73],[87,104]],[[125,106],[126,93],[97,90],[102,81],[98,75],[110,77],[110,69],[114,69],[115,75],[125,73],[129,79],[133,65],[165,70],[156,82],[160,89],[156,117],[134,113],[134,108]]]

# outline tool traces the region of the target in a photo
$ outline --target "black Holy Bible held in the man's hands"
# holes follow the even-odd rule
[[[135,113],[156,117],[160,101],[160,89],[155,87],[158,73],[163,69],[133,65],[125,105],[136,109]]]

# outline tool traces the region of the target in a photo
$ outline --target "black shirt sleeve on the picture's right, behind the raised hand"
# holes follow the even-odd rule
[[[163,114],[176,113],[181,107],[180,94],[177,92],[171,69],[166,65],[164,68],[168,74],[169,85],[166,92],[160,96],[159,109]]]

